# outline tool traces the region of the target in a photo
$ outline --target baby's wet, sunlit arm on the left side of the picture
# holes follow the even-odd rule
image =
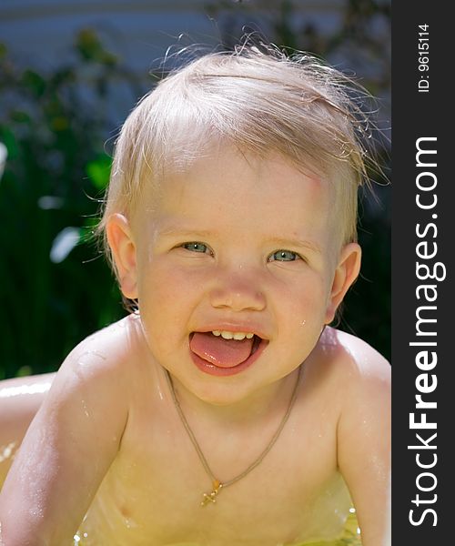
[[[58,371],[0,493],[7,546],[57,546],[73,538],[125,430],[119,373],[87,342]]]

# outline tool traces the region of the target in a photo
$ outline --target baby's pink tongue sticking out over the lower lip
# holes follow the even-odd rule
[[[220,368],[233,368],[248,359],[253,339],[224,339],[211,332],[195,332],[189,347],[198,357],[211,364]]]

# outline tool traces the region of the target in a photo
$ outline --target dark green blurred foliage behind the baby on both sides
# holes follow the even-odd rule
[[[217,2],[206,10],[218,21],[223,47],[256,29],[248,5]],[[346,2],[341,25],[330,35],[314,25],[296,31],[294,15],[292,2],[272,3],[268,39],[329,60],[343,58],[373,95],[388,96],[389,44],[371,29],[378,22],[389,27],[389,3]],[[106,97],[121,81],[136,97],[133,106],[147,86],[106,51],[94,30],[75,36],[75,54],[73,62],[44,76],[16,66],[0,45],[0,142],[8,150],[0,181],[0,379],[58,369],[77,342],[125,314],[91,234],[116,132]],[[148,86],[155,81],[150,75]],[[378,154],[387,172],[385,139],[379,139]],[[361,206],[362,276],[349,293],[340,328],[389,357],[390,192],[384,179],[373,178],[380,204],[366,197]],[[66,258],[51,259],[68,227],[78,244]]]

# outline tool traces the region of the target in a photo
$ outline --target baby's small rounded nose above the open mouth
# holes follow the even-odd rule
[[[266,308],[266,298],[260,290],[258,279],[242,272],[226,272],[218,276],[216,286],[210,291],[210,303],[214,308],[229,308],[233,311]]]

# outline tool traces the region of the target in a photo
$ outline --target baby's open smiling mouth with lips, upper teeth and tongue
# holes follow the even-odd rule
[[[233,375],[247,369],[268,345],[249,332],[192,332],[189,349],[199,369],[212,375]]]

